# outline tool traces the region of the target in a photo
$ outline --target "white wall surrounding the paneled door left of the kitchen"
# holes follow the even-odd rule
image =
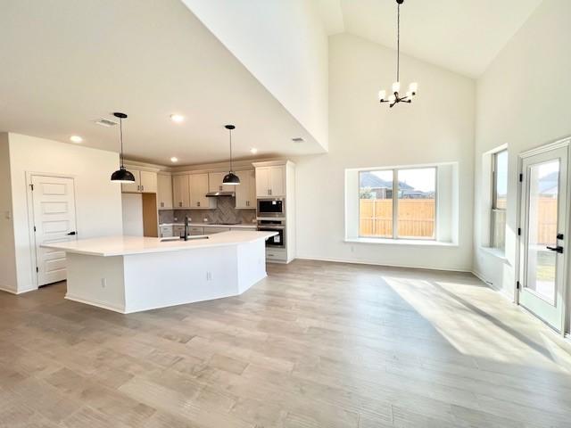
[[[44,138],[8,134],[12,210],[16,247],[17,291],[36,288],[28,221],[29,172],[74,177],[79,238],[122,235],[120,185],[110,181],[119,165],[115,152],[64,144]],[[13,287],[16,288],[16,287]]]

